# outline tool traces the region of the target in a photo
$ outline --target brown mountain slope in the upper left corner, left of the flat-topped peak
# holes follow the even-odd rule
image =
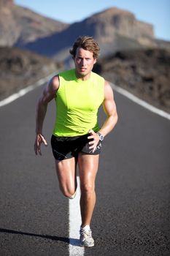
[[[13,46],[34,42],[66,29],[69,24],[45,18],[12,0],[0,0],[0,46]]]

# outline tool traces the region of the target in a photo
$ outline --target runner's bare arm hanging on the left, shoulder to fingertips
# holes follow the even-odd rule
[[[35,153],[41,153],[41,143],[44,143],[47,146],[47,141],[42,135],[42,127],[47,112],[48,103],[55,98],[56,91],[59,87],[58,76],[53,77],[48,83],[47,87],[42,92],[41,97],[39,98],[38,104],[36,106],[36,140],[34,143]]]

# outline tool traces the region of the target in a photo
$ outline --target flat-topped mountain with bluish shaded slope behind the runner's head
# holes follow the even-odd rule
[[[80,35],[94,37],[100,47],[101,56],[107,56],[117,50],[140,48],[170,48],[169,42],[155,39],[151,24],[136,20],[134,14],[115,7],[96,13],[85,20],[73,23],[62,31],[44,38],[20,44],[36,53],[57,58],[58,61],[70,61],[69,49]]]

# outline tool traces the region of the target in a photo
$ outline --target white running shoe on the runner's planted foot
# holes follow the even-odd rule
[[[94,240],[91,236],[90,227],[80,227],[80,245],[85,247],[94,246]]]

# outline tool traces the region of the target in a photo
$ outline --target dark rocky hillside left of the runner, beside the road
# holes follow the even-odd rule
[[[60,64],[18,48],[0,48],[0,100],[57,72]]]

